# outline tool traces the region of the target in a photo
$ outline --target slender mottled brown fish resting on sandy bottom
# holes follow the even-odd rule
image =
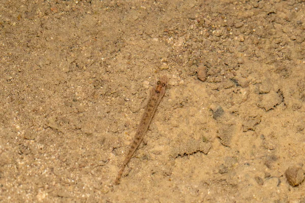
[[[124,168],[131,159],[132,155],[140,145],[140,143],[143,140],[144,134],[148,129],[148,126],[150,124],[151,119],[153,118],[155,111],[161,101],[161,98],[163,97],[165,93],[165,87],[167,83],[167,77],[162,76],[160,80],[157,82],[157,85],[151,89],[150,96],[148,99],[148,103],[146,105],[144,114],[142,116],[142,119],[139,123],[137,133],[133,139],[133,143],[130,146],[129,152],[123,162],[123,164],[120,167],[120,170],[118,171],[118,175],[115,179],[115,184],[117,185],[119,183],[119,179],[123,174]]]

